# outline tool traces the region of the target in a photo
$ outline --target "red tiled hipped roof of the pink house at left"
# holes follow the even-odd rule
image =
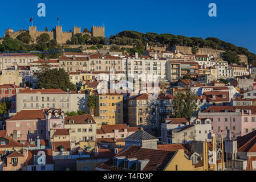
[[[22,110],[6,121],[45,119],[43,110]]]

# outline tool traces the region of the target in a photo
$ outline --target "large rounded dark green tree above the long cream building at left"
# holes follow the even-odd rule
[[[76,85],[70,81],[70,76],[64,69],[47,69],[40,73],[37,88],[77,90]]]

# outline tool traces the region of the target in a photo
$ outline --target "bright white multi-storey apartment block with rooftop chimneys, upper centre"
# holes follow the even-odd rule
[[[143,81],[154,81],[166,79],[167,60],[151,56],[139,56],[138,53],[126,56],[122,59],[121,71],[128,77],[141,79]],[[154,79],[154,80],[153,80]]]

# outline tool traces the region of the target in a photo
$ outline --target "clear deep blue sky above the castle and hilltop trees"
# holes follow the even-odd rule
[[[209,3],[216,3],[217,17],[208,16]],[[45,3],[46,17],[38,17],[38,3]],[[0,35],[5,29],[28,29],[34,16],[38,30],[54,28],[60,17],[64,31],[73,26],[91,29],[105,26],[105,35],[123,30],[217,37],[256,53],[256,1],[252,0],[108,0],[108,1],[2,1]]]

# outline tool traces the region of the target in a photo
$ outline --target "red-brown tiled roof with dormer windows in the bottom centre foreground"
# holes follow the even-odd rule
[[[141,146],[131,146],[116,156],[125,156],[127,159],[136,158],[137,160],[148,159],[149,162],[143,168],[143,171],[162,171],[173,158],[174,154],[176,154],[176,152],[151,150],[141,148]],[[111,171],[135,170],[135,167],[131,167],[131,169],[124,169],[123,164],[120,164],[119,167],[113,167],[112,159],[101,164],[98,168],[108,169]]]

